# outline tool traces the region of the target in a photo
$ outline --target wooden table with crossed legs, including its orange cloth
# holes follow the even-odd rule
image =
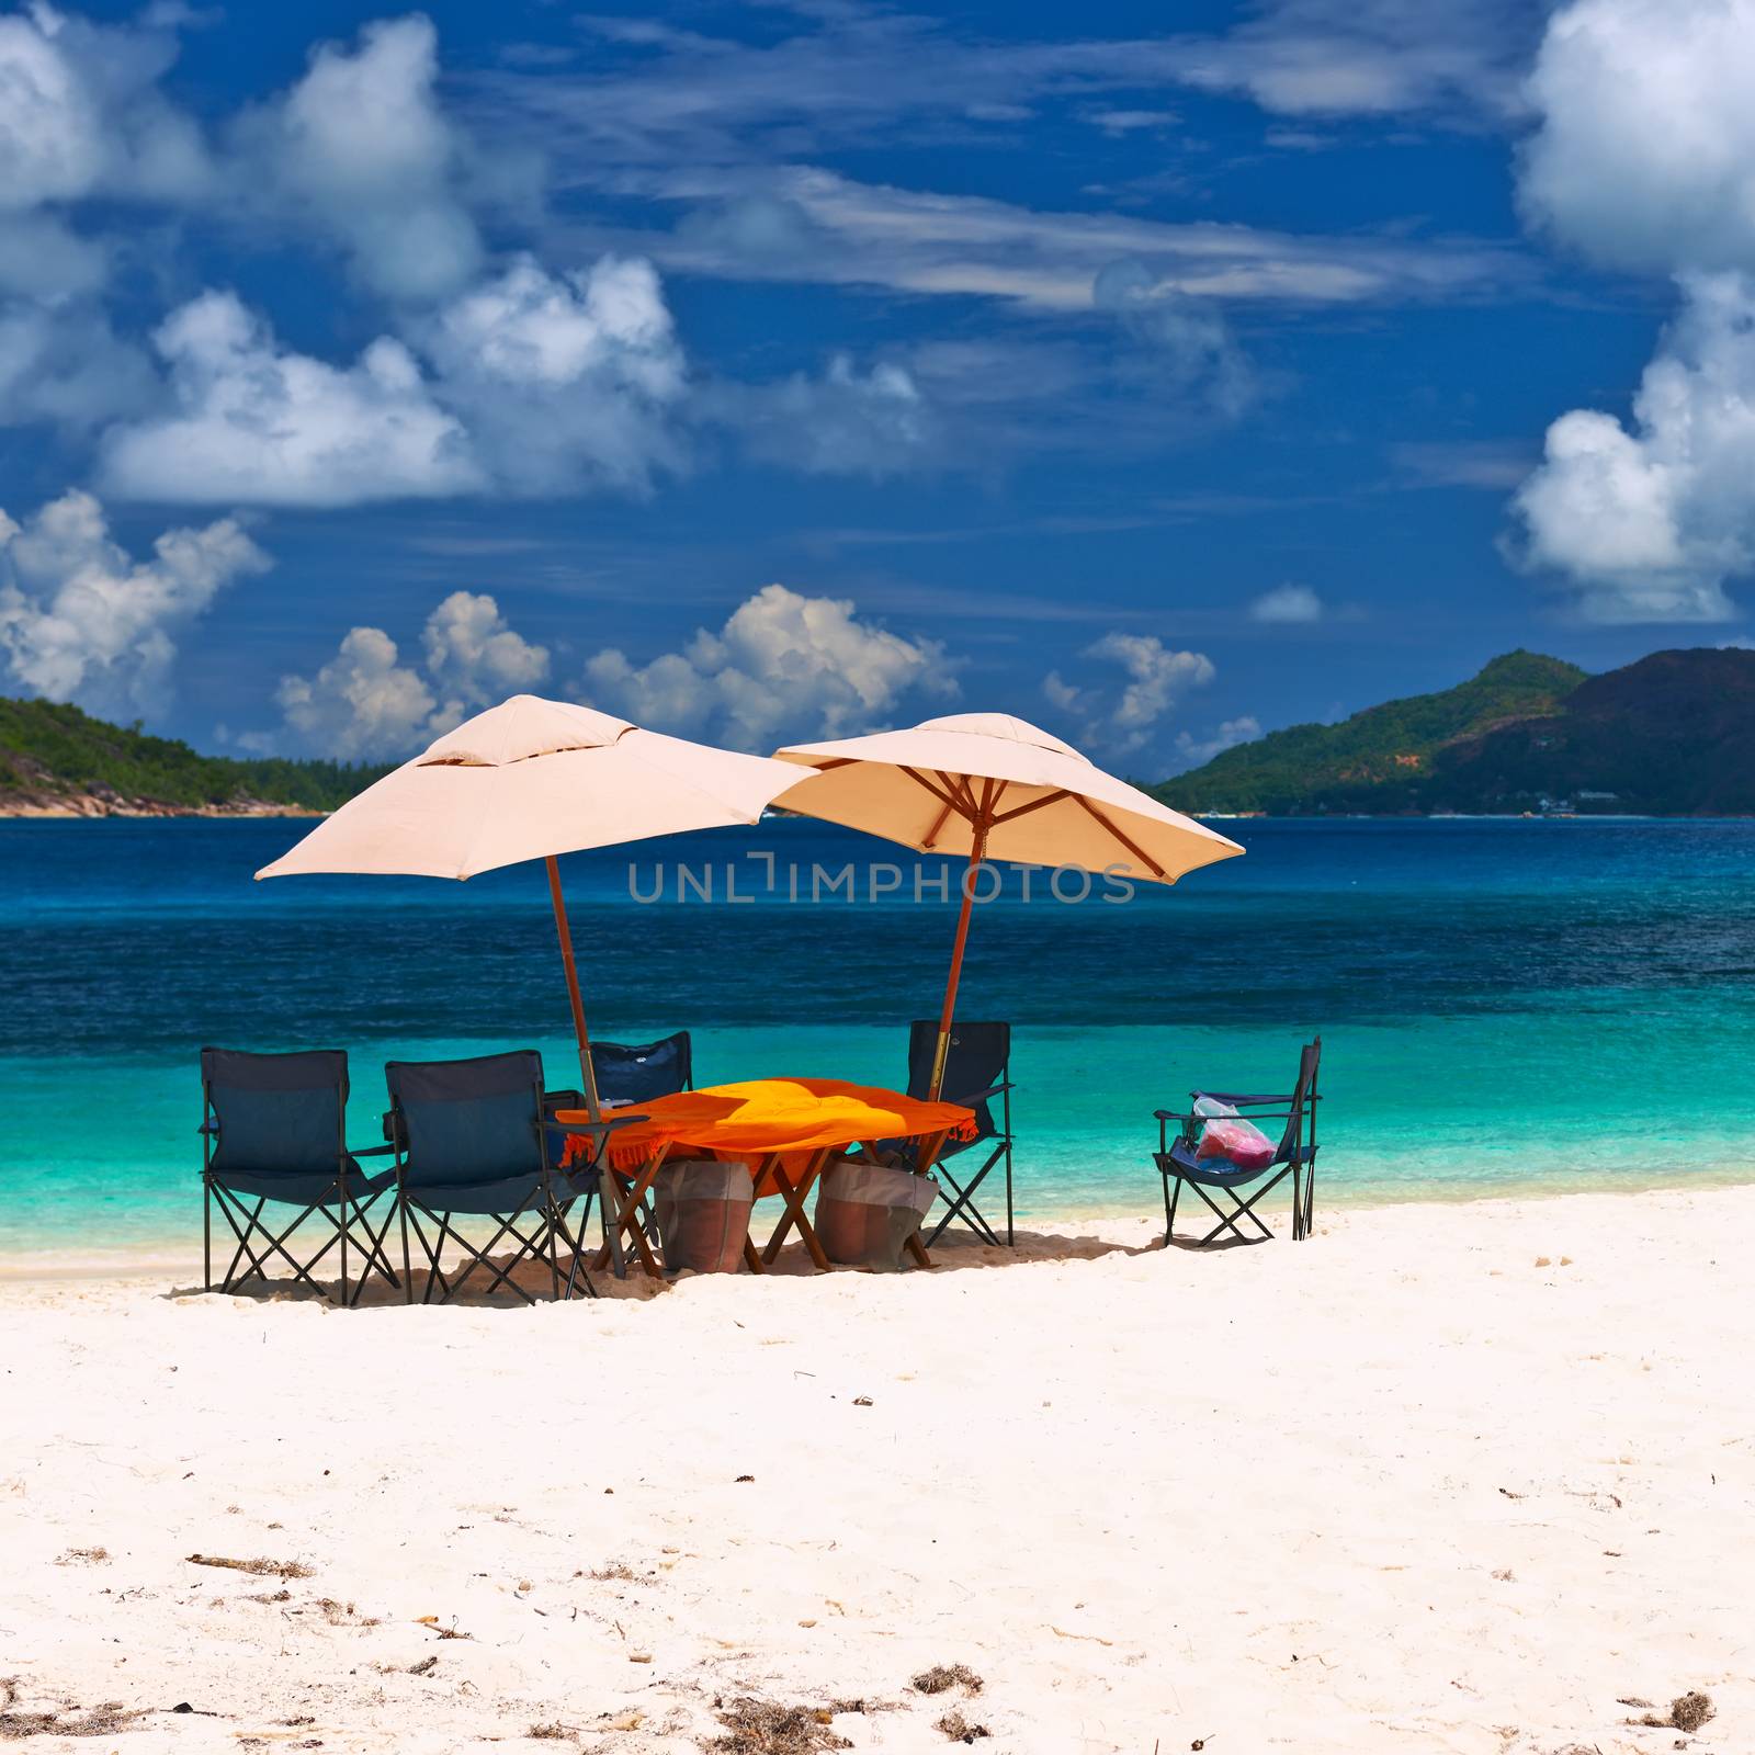
[[[653,1278],[660,1278],[662,1269],[641,1230],[639,1209],[669,1158],[748,1164],[755,1199],[781,1197],[786,1209],[762,1251],[744,1239],[744,1260],[751,1272],[760,1274],[774,1262],[795,1225],[811,1260],[827,1271],[830,1262],[806,1213],[806,1200],[832,1158],[855,1144],[906,1139],[918,1143],[914,1169],[925,1176],[949,1135],[967,1137],[976,1127],[974,1111],[958,1104],[916,1102],[902,1092],[844,1079],[713,1085],[658,1097],[639,1107],[644,1120],[620,1128],[609,1143],[611,1169],[627,1178],[628,1186],[607,1236],[625,1234],[641,1267]],[[555,1120],[562,1127],[577,1127],[590,1116],[583,1109],[558,1109]],[[909,1246],[921,1267],[932,1265],[920,1237],[909,1239]],[[602,1269],[607,1260],[605,1239],[593,1265]]]

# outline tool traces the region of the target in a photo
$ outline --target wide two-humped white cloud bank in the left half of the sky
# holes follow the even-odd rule
[[[360,505],[460,493],[646,491],[686,465],[686,362],[658,277],[530,260],[353,365],[283,349],[232,293],[158,330],[177,411],[112,428],[104,481],[147,500]]]

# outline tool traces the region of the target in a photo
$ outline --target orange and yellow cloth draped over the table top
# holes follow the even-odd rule
[[[846,1079],[748,1079],[741,1085],[713,1085],[698,1092],[677,1092],[639,1104],[644,1121],[618,1128],[611,1135],[612,1169],[632,1171],[655,1148],[667,1157],[741,1158],[751,1172],[770,1153],[781,1153],[781,1165],[793,1174],[823,1146],[851,1146],[855,1141],[921,1139],[949,1134],[972,1139],[976,1116],[953,1102],[916,1102],[900,1092],[878,1085],[849,1085]],[[586,1120],[583,1109],[560,1109],[563,1127]],[[569,1141],[572,1160],[590,1148]],[[770,1179],[756,1188],[756,1197],[776,1193]]]

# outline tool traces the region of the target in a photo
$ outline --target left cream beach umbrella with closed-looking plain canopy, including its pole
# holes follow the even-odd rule
[[[512,695],[349,799],[256,876],[381,872],[463,879],[542,860],[579,1039],[579,1074],[597,1120],[591,1039],[556,855],[755,823],[772,797],[797,779],[795,767],[763,756],[646,732],[563,700]]]

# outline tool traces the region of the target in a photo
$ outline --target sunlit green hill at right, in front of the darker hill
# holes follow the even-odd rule
[[[1441,751],[1506,725],[1553,718],[1585,679],[1585,670],[1560,658],[1506,653],[1457,688],[1367,707],[1341,725],[1271,732],[1151,792],[1192,813],[1429,809]]]

